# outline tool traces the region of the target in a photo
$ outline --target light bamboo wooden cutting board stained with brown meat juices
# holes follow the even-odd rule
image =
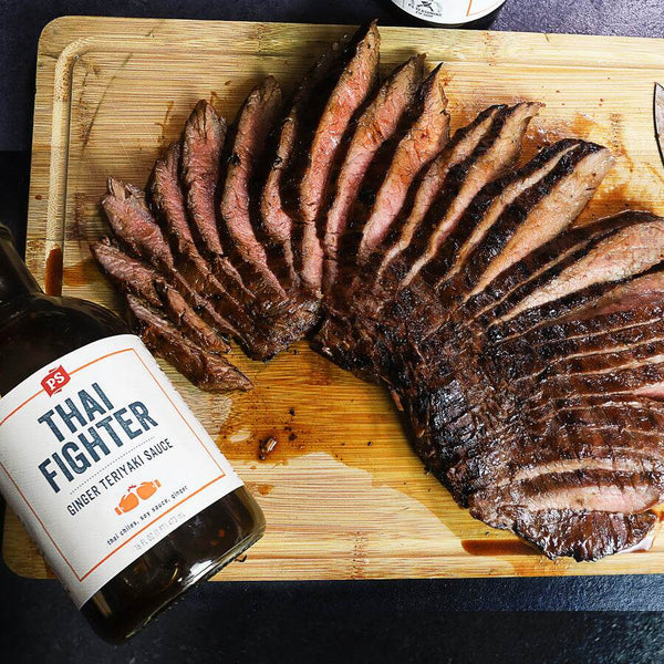
[[[143,185],[200,97],[232,120],[249,90],[273,74],[290,91],[345,28],[268,23],[63,18],[40,41],[28,264],[65,294],[118,310],[91,261],[104,235],[97,201],[113,174]],[[453,129],[497,102],[547,107],[528,154],[580,136],[618,163],[585,218],[626,205],[664,214],[654,141],[653,82],[664,82],[657,40],[383,28],[385,71],[416,51],[445,62]],[[59,270],[59,250],[64,267]],[[268,531],[219,579],[362,579],[664,572],[664,536],[649,552],[596,563],[551,562],[456,507],[424,474],[390,400],[305,343],[269,364],[232,359],[248,394],[211,396],[168,365],[178,390],[266,511]],[[273,436],[269,459],[259,440]],[[84,537],[84,533],[81,535]],[[18,573],[46,567],[8,513],[3,553]]]

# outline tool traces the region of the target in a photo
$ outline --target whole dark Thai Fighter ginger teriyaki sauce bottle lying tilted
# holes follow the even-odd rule
[[[45,295],[0,226],[0,488],[105,640],[263,533],[260,508],[114,313]]]

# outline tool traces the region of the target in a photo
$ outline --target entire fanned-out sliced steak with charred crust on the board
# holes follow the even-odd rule
[[[384,385],[471,516],[550,558],[647,547],[664,497],[664,219],[578,226],[611,168],[566,138],[518,165],[541,104],[449,139],[440,66],[377,84],[375,23],[326,50],[281,113],[268,77],[226,138],[205,101],[148,196],[111,178],[92,252],[148,346],[204,390],[250,387],[310,336]]]

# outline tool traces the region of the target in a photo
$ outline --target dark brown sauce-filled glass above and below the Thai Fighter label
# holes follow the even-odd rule
[[[0,395],[71,351],[128,332],[103,307],[45,295],[0,226]],[[240,487],[141,554],[81,612],[100,636],[123,641],[260,539],[264,526],[258,504]]]

